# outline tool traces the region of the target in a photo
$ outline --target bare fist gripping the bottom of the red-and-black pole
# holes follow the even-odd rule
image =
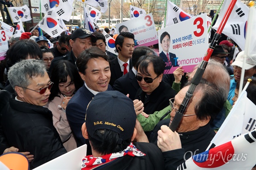
[[[179,134],[176,131],[173,132],[168,126],[161,126],[161,130],[158,130],[157,134],[157,146],[162,152],[181,148]]]

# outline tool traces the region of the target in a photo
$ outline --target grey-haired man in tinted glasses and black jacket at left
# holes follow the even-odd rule
[[[9,96],[0,121],[9,146],[34,156],[30,168],[67,153],[53,126],[52,112],[44,108],[52,87],[44,63],[35,59],[17,62],[9,69],[8,79],[16,97]]]

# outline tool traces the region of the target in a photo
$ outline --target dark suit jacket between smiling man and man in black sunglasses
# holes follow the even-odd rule
[[[134,100],[137,90],[140,88],[139,83],[133,71],[129,71],[124,76],[116,79],[113,89],[120,91],[122,94],[129,94],[129,98]]]

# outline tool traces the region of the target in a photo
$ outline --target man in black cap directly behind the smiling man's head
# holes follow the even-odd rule
[[[90,48],[93,42],[96,42],[96,37],[91,35],[89,30],[84,28],[76,29],[75,31],[73,31],[70,40],[70,46],[72,47],[72,51],[62,57],[55,57],[52,60],[49,71],[52,70],[52,68],[60,59],[68,60],[75,65],[78,55],[85,49]]]

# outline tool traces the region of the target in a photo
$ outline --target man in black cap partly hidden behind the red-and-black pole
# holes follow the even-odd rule
[[[215,59],[216,61],[224,65],[225,59],[227,57],[226,54],[229,53],[225,52],[221,45],[216,45],[214,50],[212,51],[211,59]],[[230,75],[233,74],[231,68],[227,67],[226,65],[224,65],[224,67]]]

